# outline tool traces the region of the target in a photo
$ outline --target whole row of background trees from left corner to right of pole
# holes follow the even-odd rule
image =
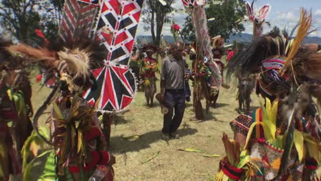
[[[173,12],[181,13],[172,7],[174,0],[145,0],[141,17],[145,31],[150,31],[155,45],[160,44],[160,38],[165,23],[171,21]],[[180,1],[180,0],[176,0]],[[58,33],[62,19],[64,0],[10,0],[0,2],[0,32],[12,34],[14,38],[24,43],[39,43],[35,29],[40,29],[47,38],[53,38]],[[246,14],[243,0],[209,1],[206,5],[206,15],[209,19],[209,34],[218,34],[228,38],[230,34],[242,32],[245,28],[241,21]],[[211,21],[212,20],[212,21]],[[182,29],[185,40],[193,41],[193,24],[191,16],[187,16]]]

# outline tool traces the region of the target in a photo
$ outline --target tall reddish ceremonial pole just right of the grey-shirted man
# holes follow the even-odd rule
[[[204,59],[207,60],[207,64],[211,69],[210,84],[214,93],[219,90],[222,84],[222,76],[219,71],[219,67],[213,61],[213,55],[211,51],[211,38],[209,37],[209,29],[207,26],[206,12],[204,10],[204,5],[207,1],[199,0],[182,0],[185,9],[192,17],[192,23],[195,30],[195,44],[196,44],[196,60],[193,64],[193,73],[195,75],[194,79],[194,108],[196,119],[204,119],[204,114],[202,112],[202,97],[206,98],[206,110],[209,109],[209,95],[210,90],[207,88],[207,82],[204,80],[204,75],[200,72],[200,64],[204,64]]]

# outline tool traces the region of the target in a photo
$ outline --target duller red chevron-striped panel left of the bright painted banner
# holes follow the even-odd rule
[[[88,0],[90,1],[90,0]],[[77,29],[84,29],[86,36],[89,36],[93,22],[95,21],[96,10],[99,5],[93,1],[84,2],[77,0],[66,0],[64,3],[64,14],[59,29],[59,36],[65,41],[73,39]],[[87,34],[88,32],[88,34]]]

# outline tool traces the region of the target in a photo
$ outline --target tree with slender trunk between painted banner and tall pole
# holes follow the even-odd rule
[[[160,44],[160,36],[162,34],[164,23],[169,23],[167,14],[173,10],[171,3],[174,0],[165,0],[166,5],[162,5],[158,0],[146,0],[145,8],[143,9],[143,23],[145,31],[150,30],[153,43]],[[156,31],[155,31],[156,30]]]

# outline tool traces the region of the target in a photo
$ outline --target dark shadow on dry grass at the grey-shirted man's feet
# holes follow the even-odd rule
[[[197,129],[183,128],[177,130],[178,136],[183,137],[198,132]],[[134,141],[128,141],[123,136],[115,136],[110,138],[111,152],[115,154],[124,154],[127,152],[137,152],[141,149],[150,147],[150,144],[160,140],[161,132],[153,131],[142,134],[139,138]]]

